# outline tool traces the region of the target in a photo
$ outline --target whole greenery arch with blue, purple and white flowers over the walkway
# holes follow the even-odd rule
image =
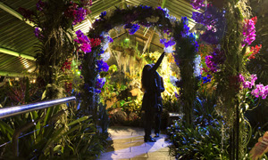
[[[83,100],[81,108],[86,111],[84,114],[96,115],[94,114],[97,111],[96,101],[98,98],[96,93],[105,84],[103,79],[98,76],[98,73],[108,69],[104,60],[105,50],[108,44],[113,42],[108,31],[115,27],[124,26],[131,35],[138,30],[140,25],[147,28],[157,28],[161,33],[160,36],[163,34],[168,35],[168,40],[161,37],[161,43],[164,44],[166,52],[171,52],[172,45],[176,44],[175,52],[172,54],[181,72],[187,73],[181,75],[181,79],[185,82],[182,86],[182,100],[184,100],[186,108],[192,106],[192,101],[195,97],[193,66],[198,44],[196,36],[189,33],[187,18],[182,17],[181,20],[177,20],[168,14],[167,9],[138,5],[130,6],[126,9],[116,8],[114,11],[102,12],[99,19],[92,24],[93,28],[89,30],[89,39],[84,38],[87,42],[90,40],[91,51],[83,51],[85,43],[79,43],[81,76],[83,76],[85,83],[81,95]],[[78,39],[84,36],[81,33],[77,33],[77,35]],[[188,113],[190,113],[190,110]],[[191,117],[187,118],[190,121]]]

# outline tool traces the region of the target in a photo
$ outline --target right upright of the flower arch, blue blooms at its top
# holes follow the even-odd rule
[[[186,17],[182,18],[180,23],[176,24],[173,34],[176,42],[178,42],[173,56],[180,68],[180,100],[184,113],[183,117],[186,124],[190,125],[193,121],[193,104],[197,93],[197,77],[194,76],[194,60],[197,55],[198,44],[195,34],[189,34],[188,20]]]

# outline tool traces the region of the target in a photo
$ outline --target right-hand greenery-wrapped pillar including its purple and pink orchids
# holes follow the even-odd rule
[[[208,68],[205,72],[214,76],[218,97],[216,111],[223,117],[224,128],[229,131],[230,159],[239,159],[245,156],[250,139],[250,133],[247,135],[250,127],[244,113],[247,110],[245,106],[248,106],[247,100],[251,96],[242,90],[241,82],[244,88],[247,88],[248,82],[241,74],[248,74],[245,65],[253,52],[247,52],[247,45],[255,40],[255,19],[248,20],[251,13],[247,0],[208,3],[205,6],[192,1],[196,8],[205,6],[204,13],[193,12],[193,19],[206,27],[201,39],[208,44],[214,44],[214,51],[205,57]],[[252,76],[248,88],[255,85],[255,79],[256,77]]]

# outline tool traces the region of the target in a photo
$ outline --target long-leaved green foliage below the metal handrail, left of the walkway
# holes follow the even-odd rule
[[[56,108],[54,107],[53,111]],[[43,113],[42,110],[29,113],[31,117],[28,117],[30,120],[28,122],[25,120],[18,121],[21,119],[20,116],[1,121],[0,143],[3,144],[12,140],[13,134],[16,132],[21,132],[23,135],[33,131],[29,135],[22,136],[19,140],[19,157],[26,159],[33,157],[38,159],[49,157],[55,159],[63,159],[64,157],[84,159],[94,157],[93,159],[95,159],[104,149],[105,135],[96,133],[95,124],[92,123],[90,116],[79,118],[72,113],[69,115],[67,122],[62,122],[59,121],[59,118],[66,116],[66,111],[57,111],[55,114],[48,114],[47,111],[46,115]],[[31,122],[31,118],[35,121]],[[29,125],[29,130],[24,130],[25,126]],[[2,148],[3,150],[1,149],[3,158],[15,157],[12,149],[13,145],[13,143],[9,143]]]

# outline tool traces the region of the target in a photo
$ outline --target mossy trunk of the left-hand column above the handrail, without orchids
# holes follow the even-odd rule
[[[39,76],[43,78],[46,86],[46,99],[57,99],[60,88],[57,77],[63,62],[73,51],[71,21],[67,20],[63,12],[68,8],[63,0],[47,0],[39,4],[41,7],[36,13],[36,35],[40,44],[37,50],[37,65]]]

